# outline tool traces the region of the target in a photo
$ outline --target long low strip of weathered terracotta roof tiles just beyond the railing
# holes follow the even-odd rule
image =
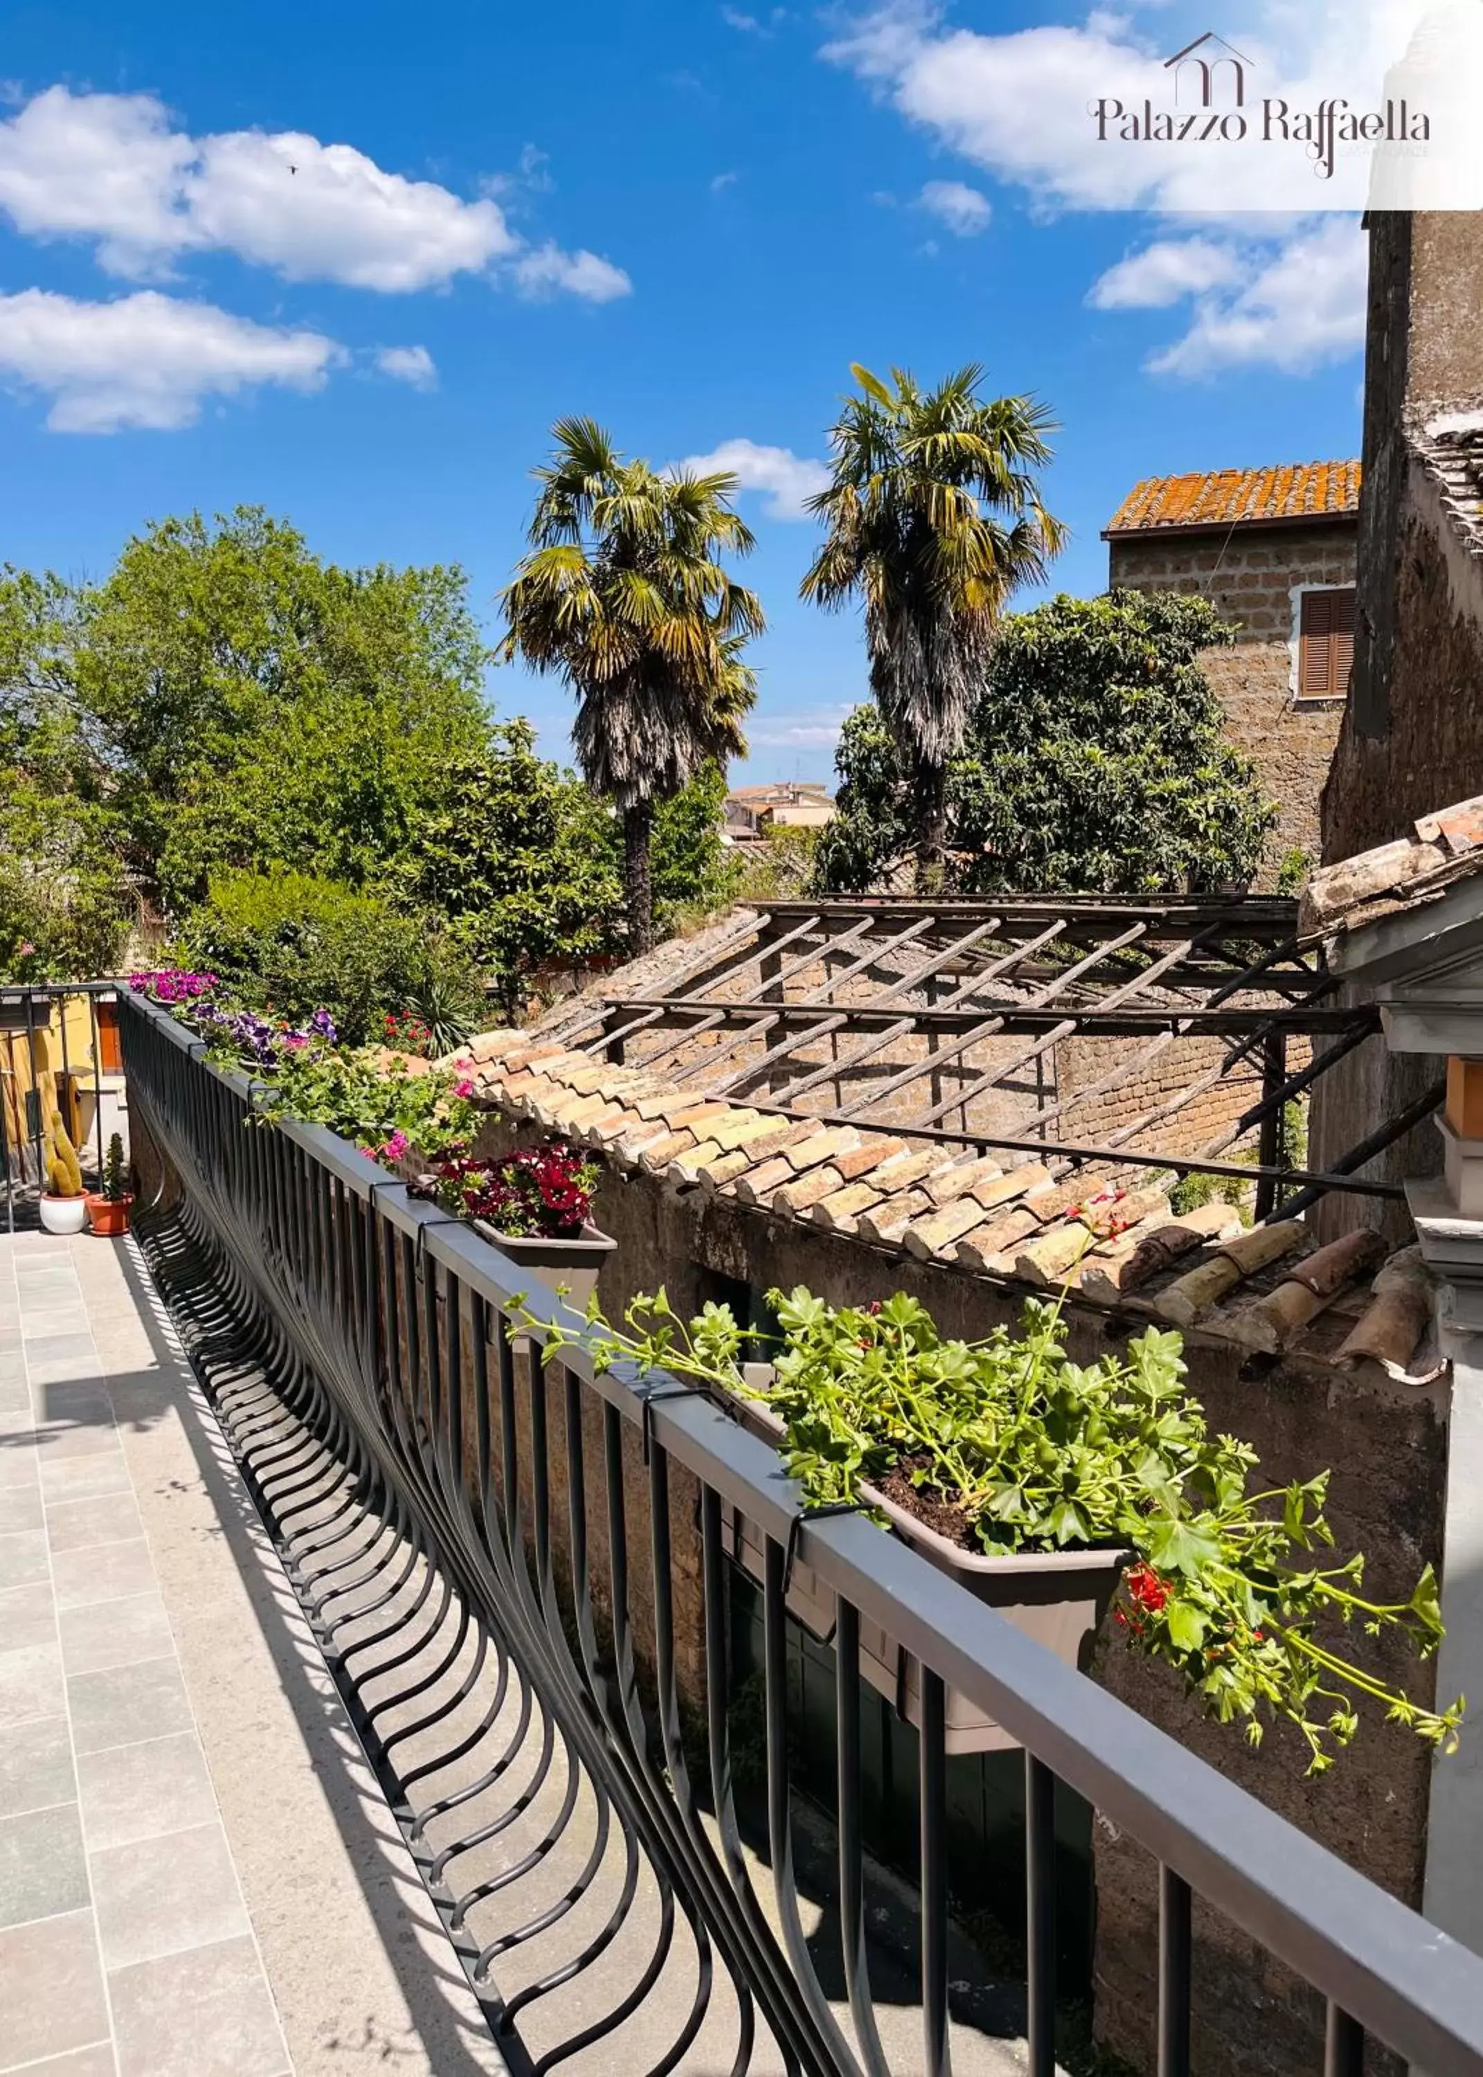
[[[1369,1282],[1385,1255],[1371,1232],[1315,1255],[1300,1221],[1244,1232],[1228,1205],[1176,1217],[1155,1171],[1120,1188],[1088,1169],[1053,1176],[1041,1161],[1016,1165],[1014,1155],[1001,1165],[872,1126],[781,1117],[687,1095],[542,1032],[486,1032],[463,1049],[469,1055],[490,1109],[679,1190],[970,1275],[1030,1288],[1070,1279],[1088,1304],[1198,1327],[1255,1352],[1298,1344],[1340,1369],[1365,1358],[1398,1377],[1437,1369],[1410,1367],[1429,1325],[1425,1271],[1398,1257],[1381,1271],[1392,1279],[1387,1304],[1371,1304]],[[1400,1306],[1398,1282],[1408,1288]],[[1400,1340],[1398,1317],[1410,1323]]]

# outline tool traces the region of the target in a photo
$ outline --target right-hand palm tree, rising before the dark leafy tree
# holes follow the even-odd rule
[[[831,432],[833,482],[810,498],[829,538],[802,596],[833,611],[864,600],[870,690],[916,800],[916,889],[937,893],[947,762],[995,625],[1066,540],[1030,474],[1051,459],[1055,428],[1034,397],[987,403],[976,366],[926,393],[901,368],[891,384],[852,374],[860,388]]]

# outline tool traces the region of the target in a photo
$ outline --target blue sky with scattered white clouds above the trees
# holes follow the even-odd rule
[[[98,575],[152,517],[262,503],[336,561],[463,563],[492,627],[557,415],[656,463],[752,442],[748,775],[827,777],[864,660],[854,619],[798,604],[814,530],[787,505],[850,361],[976,359],[1051,403],[1072,592],[1101,590],[1140,476],[1358,451],[1354,218],[1211,210],[1248,199],[1240,174],[1159,214],[1155,177],[1057,139],[1109,52],[1207,27],[1182,0],[4,19],[12,563]],[[567,754],[559,685],[496,671],[490,694]]]

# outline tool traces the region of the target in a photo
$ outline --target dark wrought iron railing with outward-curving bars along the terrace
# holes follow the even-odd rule
[[[955,1689],[1024,1747],[1030,2077],[1055,2069],[1057,1780],[1159,1863],[1159,2077],[1192,2060],[1196,1898],[1327,2000],[1329,2077],[1367,2035],[1483,2073],[1483,1961],[872,1522],[808,1518],[700,1394],[582,1348],[530,1363],[511,1261],[324,1130],[247,1126],[247,1082],[162,1011],[129,1001],[123,1032],[156,1273],[513,2071],[978,2067],[951,2006]],[[727,1510],[764,1545],[762,1842],[733,1786]],[[837,1923],[796,1863],[789,1560],[837,1595]],[[920,1664],[910,1998],[872,1981],[862,1622]]]

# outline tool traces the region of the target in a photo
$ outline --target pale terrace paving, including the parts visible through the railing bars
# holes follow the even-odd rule
[[[312,1539],[341,1498],[332,1479]],[[420,1579],[403,1572],[390,1606],[376,1579],[361,1585],[368,1610],[341,1637],[397,1612],[424,1635],[403,1674],[413,1693],[382,1734],[407,1726],[403,1763],[432,1776],[420,1807],[459,1790],[442,1817],[428,1811],[428,1838],[469,1834],[457,1888],[484,1898],[465,1927],[476,1946],[559,1903],[594,1846],[602,1861],[571,1917],[552,1917],[555,1944],[505,1957],[509,1996],[582,1944],[584,1917],[588,1934],[602,1923],[625,1857],[606,1832],[598,1844],[588,1788],[555,1815],[561,1786],[517,1680],[480,1728],[494,1672],[474,1680],[471,1635],[442,1655],[455,1618],[417,1622]],[[436,1724],[417,1699],[428,1668],[444,1697],[457,1689]],[[507,1759],[486,1776],[505,1749],[509,1780]],[[528,1857],[552,1817],[552,1851]],[[517,1865],[534,1871],[507,1894]],[[771,1915],[762,1865],[754,1880]],[[810,1900],[804,1917],[812,1938],[827,1911]],[[644,1876],[602,1967],[532,2008],[525,2046],[611,2013],[658,1921]],[[868,1892],[868,1927],[889,2067],[914,2077],[918,1932],[887,1878]],[[1018,1992],[953,1938],[953,2062],[962,2077],[1020,2077]],[[567,2062],[573,2077],[654,2067],[690,2013],[679,1946],[623,2031]],[[843,1986],[831,1996],[847,2025]],[[725,2077],[733,2052],[719,1981],[679,2069]],[[0,2073],[19,2071],[505,2071],[143,1261],[133,1242],[91,1236],[0,1236]],[[754,2077],[781,2071],[760,2038]]]

